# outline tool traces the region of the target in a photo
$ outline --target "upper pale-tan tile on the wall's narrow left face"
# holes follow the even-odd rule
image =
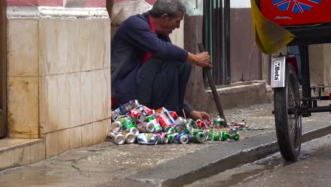
[[[8,77],[38,76],[38,20],[8,20]]]

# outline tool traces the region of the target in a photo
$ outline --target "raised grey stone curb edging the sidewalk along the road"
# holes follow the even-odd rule
[[[308,142],[330,133],[331,125],[311,130],[303,133],[302,142]],[[226,151],[225,154],[224,151]],[[139,171],[137,174],[127,176],[127,180],[146,183],[148,186],[183,186],[233,169],[240,164],[255,162],[278,151],[276,132],[269,132],[238,142],[226,142],[224,145],[207,147],[152,169]]]

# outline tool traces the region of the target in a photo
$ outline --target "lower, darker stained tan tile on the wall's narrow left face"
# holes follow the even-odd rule
[[[38,78],[8,79],[8,129],[10,137],[38,137]]]

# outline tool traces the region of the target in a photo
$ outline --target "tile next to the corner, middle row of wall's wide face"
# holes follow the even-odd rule
[[[47,76],[45,81],[45,109],[46,109],[46,124],[45,133],[54,132],[58,130],[59,116],[58,116],[58,104],[57,101],[57,75]]]

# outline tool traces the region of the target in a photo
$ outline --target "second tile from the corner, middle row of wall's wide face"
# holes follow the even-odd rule
[[[57,75],[58,129],[69,128],[69,75]]]

